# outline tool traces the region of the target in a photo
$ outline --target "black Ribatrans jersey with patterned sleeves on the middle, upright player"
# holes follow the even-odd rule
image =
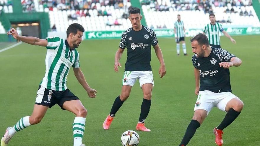
[[[127,48],[125,71],[148,71],[152,70],[151,45],[157,45],[158,40],[155,32],[145,26],[139,31],[133,28],[123,32],[120,45],[121,49]]]

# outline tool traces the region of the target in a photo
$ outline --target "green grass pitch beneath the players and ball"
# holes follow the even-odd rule
[[[244,102],[240,116],[224,130],[223,146],[259,145],[260,135],[260,36],[221,37],[222,48],[243,61],[240,67],[230,69],[233,93]],[[158,38],[162,49],[166,76],[159,78],[160,63],[152,48],[152,72],[155,87],[152,106],[146,119],[151,132],[138,132],[139,146],[179,145],[193,116],[196,95],[191,57],[193,55],[189,37],[186,37],[188,56],[176,55],[173,38]],[[113,70],[114,56],[120,40],[83,41],[77,49],[80,53],[81,69],[87,82],[98,91],[90,99],[77,82],[72,69],[68,75],[68,88],[79,97],[88,110],[83,143],[87,146],[120,146],[120,137],[126,130],[135,130],[143,99],[139,82],[132,88],[129,99],[116,114],[109,130],[102,123],[109,114],[114,99],[121,92],[121,79],[126,61],[126,50],[120,60],[122,68]],[[21,117],[32,113],[38,85],[45,74],[45,47],[26,43],[0,53],[0,134],[13,126]],[[202,126],[197,129],[189,145],[214,146],[212,133],[225,112],[213,108]],[[14,135],[9,146],[69,146],[73,145],[72,123],[74,114],[63,111],[58,105],[48,109],[43,120]]]

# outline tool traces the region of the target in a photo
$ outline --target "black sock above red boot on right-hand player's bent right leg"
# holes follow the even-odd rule
[[[228,125],[230,125],[240,113],[241,111],[235,111],[233,108],[231,108],[217,129],[223,130],[224,128],[228,127]]]

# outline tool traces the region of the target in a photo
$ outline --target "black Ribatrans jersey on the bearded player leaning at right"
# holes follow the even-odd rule
[[[208,57],[192,57],[192,64],[200,72],[199,91],[209,90],[215,93],[232,92],[229,69],[220,67],[221,62],[230,62],[235,55],[222,48],[213,48]]]

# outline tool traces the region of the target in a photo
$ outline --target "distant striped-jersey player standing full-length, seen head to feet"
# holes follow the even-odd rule
[[[175,33],[175,41],[177,43],[177,55],[180,55],[180,41],[182,42],[182,49],[184,55],[187,55],[186,53],[186,44],[185,44],[185,28],[184,23],[181,21],[181,15],[177,15],[178,20],[174,23],[174,33]]]

